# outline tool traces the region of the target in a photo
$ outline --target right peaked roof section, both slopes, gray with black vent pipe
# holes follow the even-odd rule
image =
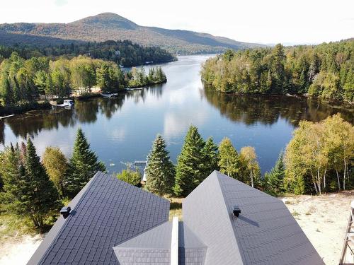
[[[207,245],[205,264],[324,264],[282,201],[217,171],[183,201],[183,218]]]

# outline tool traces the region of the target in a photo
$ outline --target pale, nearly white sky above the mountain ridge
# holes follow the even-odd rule
[[[0,23],[68,23],[118,13],[139,25],[195,30],[261,43],[320,43],[354,37],[353,0],[11,0]]]

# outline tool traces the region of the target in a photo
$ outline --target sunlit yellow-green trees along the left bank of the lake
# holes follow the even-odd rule
[[[84,56],[55,61],[48,57],[26,60],[13,52],[0,64],[0,102],[5,107],[21,107],[37,102],[38,98],[87,95],[93,87],[102,92],[118,92],[125,87],[163,82],[166,76],[160,67],[150,69],[149,74],[144,68],[123,72],[112,61]]]

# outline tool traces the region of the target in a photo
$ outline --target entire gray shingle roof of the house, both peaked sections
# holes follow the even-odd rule
[[[169,201],[98,173],[69,206],[29,264],[170,264]],[[282,201],[217,171],[185,198],[183,220],[181,265],[324,264]]]

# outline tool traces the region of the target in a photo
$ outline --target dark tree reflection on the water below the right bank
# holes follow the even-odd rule
[[[319,122],[337,112],[344,119],[353,122],[353,109],[335,103],[329,104],[315,98],[295,98],[285,95],[229,95],[217,93],[210,89],[201,91],[211,105],[219,110],[222,116],[233,122],[251,125],[261,123],[271,125],[279,118],[286,119],[293,126],[306,119]]]

